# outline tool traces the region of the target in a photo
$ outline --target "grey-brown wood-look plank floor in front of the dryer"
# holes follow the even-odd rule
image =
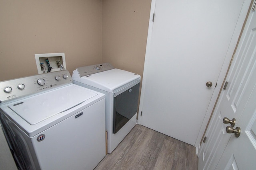
[[[197,170],[196,148],[136,125],[94,170]]]

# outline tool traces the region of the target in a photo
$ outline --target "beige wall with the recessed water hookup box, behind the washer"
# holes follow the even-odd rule
[[[101,0],[0,0],[0,81],[38,74],[34,54],[72,71],[102,62]]]

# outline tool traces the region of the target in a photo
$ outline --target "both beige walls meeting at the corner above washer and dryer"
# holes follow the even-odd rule
[[[66,67],[111,63],[143,74],[151,0],[0,0],[0,81],[38,74],[34,54]],[[103,48],[102,48],[103,46]]]

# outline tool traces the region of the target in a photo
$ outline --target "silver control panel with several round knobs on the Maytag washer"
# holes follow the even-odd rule
[[[72,84],[72,82],[68,70],[1,81],[0,103]]]

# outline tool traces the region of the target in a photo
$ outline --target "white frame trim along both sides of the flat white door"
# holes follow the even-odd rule
[[[212,111],[214,109],[215,103],[217,102],[219,92],[221,91],[222,82],[225,79],[226,72],[227,72],[227,70],[229,68],[229,65],[230,65],[230,60],[233,57],[233,53],[234,53],[234,50],[236,48],[236,44],[238,42],[238,39],[240,37],[240,32],[242,30],[244,21],[246,19],[246,15],[247,15],[249,6],[251,4],[251,1],[253,1],[253,0],[244,0],[244,4],[242,6],[240,16],[239,16],[238,21],[237,21],[237,25],[236,25],[236,28],[234,30],[234,34],[233,34],[232,39],[230,41],[230,45],[229,45],[228,51],[226,53],[224,63],[222,65],[222,68],[220,70],[220,74],[218,76],[217,86],[214,88],[214,92],[212,94],[210,104],[209,104],[208,109],[206,111],[204,120],[202,122],[200,131],[198,133],[198,137],[196,139],[196,143],[194,145],[196,147],[196,154],[198,154],[198,149],[200,148],[200,141],[201,141],[201,139],[204,135],[204,131],[206,130],[206,127],[207,127],[208,121],[210,119],[210,116],[212,114]],[[143,78],[142,78],[140,106],[139,106],[139,112],[138,112],[138,122],[137,122],[138,124],[140,124],[140,121],[141,121],[140,113],[143,110],[142,107],[143,107],[143,103],[144,103],[145,86],[146,86],[147,73],[148,73],[147,72],[148,62],[149,62],[149,59],[150,59],[150,45],[151,45],[152,31],[153,31],[153,25],[154,25],[154,22],[152,20],[153,20],[153,14],[155,12],[155,8],[156,8],[156,0],[152,0],[151,8],[150,8],[150,18],[149,18],[149,24],[148,24],[148,38],[147,38],[147,45],[146,45],[146,54],[145,54]]]

